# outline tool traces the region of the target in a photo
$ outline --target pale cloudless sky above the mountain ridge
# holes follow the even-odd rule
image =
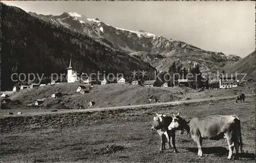
[[[203,50],[245,57],[255,50],[253,1],[2,1],[26,12],[77,12],[127,30],[140,29]]]

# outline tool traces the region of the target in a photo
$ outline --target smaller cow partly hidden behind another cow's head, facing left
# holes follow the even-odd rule
[[[161,138],[161,148],[160,148],[160,153],[163,152],[163,149],[165,149],[165,142],[166,139],[168,141],[169,148],[172,148],[170,146],[170,137],[172,137],[172,144],[174,148],[174,152],[177,153],[177,149],[175,147],[175,131],[169,131],[168,126],[169,124],[173,121],[173,118],[170,116],[166,116],[163,114],[158,114],[156,117],[154,117],[154,123],[151,129],[153,131],[157,131],[158,134],[160,135]]]

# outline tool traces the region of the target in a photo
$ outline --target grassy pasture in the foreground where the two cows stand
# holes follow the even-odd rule
[[[207,101],[178,106],[95,112],[0,117],[2,162],[226,162],[224,139],[203,141],[204,157],[187,135],[176,132],[179,153],[159,153],[160,138],[151,131],[155,113],[186,120],[210,114],[237,114],[245,153],[232,162],[255,162],[255,97],[245,103]]]

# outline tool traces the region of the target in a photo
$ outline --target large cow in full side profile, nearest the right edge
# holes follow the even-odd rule
[[[237,157],[239,145],[242,153],[242,135],[240,119],[237,115],[208,115],[205,117],[195,117],[189,122],[175,115],[169,130],[184,130],[189,137],[193,138],[198,145],[198,156],[202,157],[203,139],[212,139],[218,141],[225,138],[229,147],[227,159],[231,159],[233,148],[235,148],[234,158]]]

